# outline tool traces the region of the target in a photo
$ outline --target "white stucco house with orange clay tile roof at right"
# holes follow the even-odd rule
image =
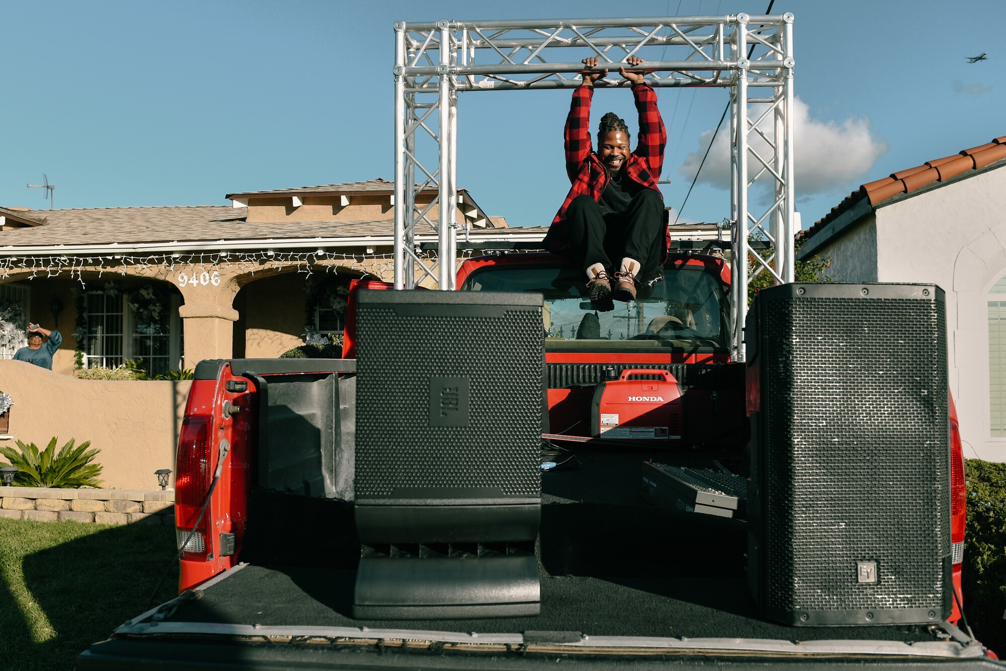
[[[965,455],[1006,461],[1006,136],[863,184],[802,239],[835,281],[947,292]]]

